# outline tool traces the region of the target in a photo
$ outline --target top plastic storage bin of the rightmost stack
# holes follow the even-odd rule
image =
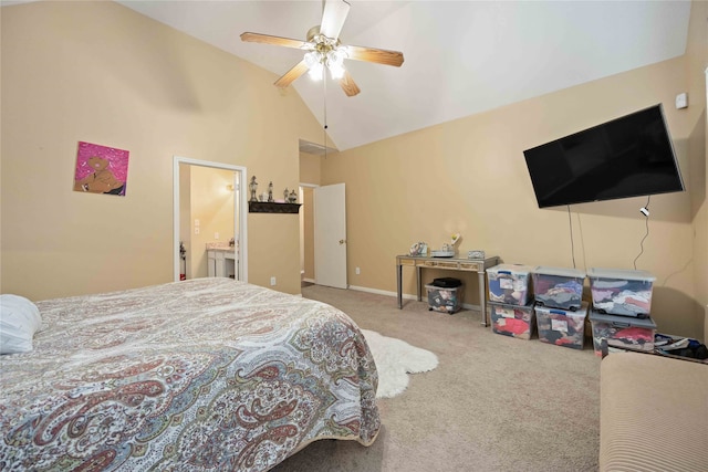
[[[652,308],[656,277],[646,271],[587,270],[593,310],[608,315],[646,317]]]

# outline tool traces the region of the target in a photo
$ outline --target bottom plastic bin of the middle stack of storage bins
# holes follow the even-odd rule
[[[575,349],[583,348],[587,302],[583,302],[575,312],[542,305],[535,305],[533,311],[540,340]]]

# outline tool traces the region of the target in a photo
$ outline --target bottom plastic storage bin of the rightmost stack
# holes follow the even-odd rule
[[[650,317],[632,318],[605,315],[591,310],[590,323],[593,327],[593,348],[597,356],[602,356],[601,343],[603,339],[607,339],[608,347],[645,353],[654,350],[656,323]]]

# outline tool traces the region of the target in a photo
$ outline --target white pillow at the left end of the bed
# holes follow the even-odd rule
[[[42,326],[40,311],[20,295],[0,295],[0,354],[29,353]]]

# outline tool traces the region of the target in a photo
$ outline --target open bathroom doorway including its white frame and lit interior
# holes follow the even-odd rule
[[[175,281],[248,282],[246,168],[175,156],[173,171]],[[226,269],[209,270],[215,254]]]

